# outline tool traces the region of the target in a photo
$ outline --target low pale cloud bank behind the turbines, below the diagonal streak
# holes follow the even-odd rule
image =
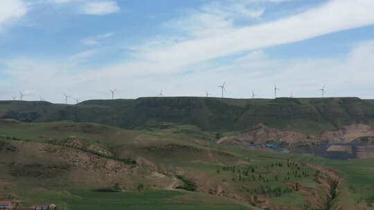
[[[62,102],[64,92],[81,99],[100,99],[110,97],[108,88],[118,88],[123,90],[118,97],[127,98],[154,96],[162,88],[167,96],[204,96],[207,89],[219,97],[217,85],[226,81],[228,97],[251,97],[251,90],[260,97],[273,97],[272,84],[276,83],[281,88],[280,97],[287,97],[292,91],[295,97],[319,97],[318,89],[326,84],[328,97],[373,98],[371,57],[374,41],[357,44],[344,57],[326,59],[268,59],[258,50],[224,66],[199,65],[199,69],[206,66],[208,70],[184,75],[162,73],[168,64],[133,63],[82,70],[69,64],[13,60],[7,63],[6,72],[11,79],[0,84],[0,95],[7,99],[17,89],[30,90],[35,96],[28,99],[43,95],[47,100]],[[157,76],[150,74],[152,70]],[[46,91],[46,87],[51,88]]]

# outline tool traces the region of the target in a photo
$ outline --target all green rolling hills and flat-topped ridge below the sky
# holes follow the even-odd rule
[[[358,98],[0,102],[0,200],[64,210],[373,209],[370,155],[289,152],[336,141],[326,151],[353,153],[347,143],[366,153],[373,113]],[[247,146],[269,142],[282,150]]]

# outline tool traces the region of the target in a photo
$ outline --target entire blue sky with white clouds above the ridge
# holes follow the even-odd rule
[[[374,99],[373,0],[1,0],[0,99]]]

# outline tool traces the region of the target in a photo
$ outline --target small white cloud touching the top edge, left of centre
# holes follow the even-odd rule
[[[86,15],[108,15],[118,12],[120,9],[116,1],[91,1],[86,3],[83,13]]]

